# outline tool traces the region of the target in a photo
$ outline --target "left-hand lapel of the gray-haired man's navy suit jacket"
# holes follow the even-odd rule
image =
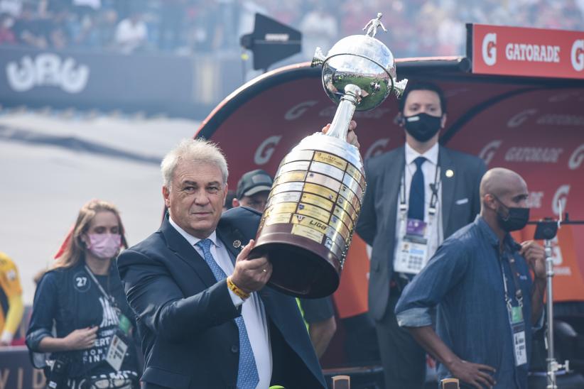
[[[209,265],[207,265],[195,248],[190,246],[188,241],[186,241],[186,239],[184,239],[168,221],[168,214],[164,217],[161,231],[166,239],[166,246],[173,251],[180,260],[189,265],[207,287],[211,287],[217,283]]]

